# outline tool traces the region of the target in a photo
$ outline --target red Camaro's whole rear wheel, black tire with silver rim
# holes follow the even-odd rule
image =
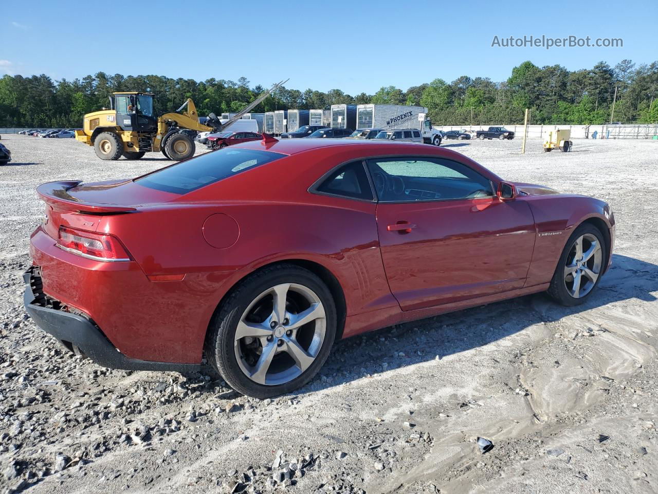
[[[267,267],[222,302],[206,339],[209,362],[236,391],[270,398],[305,385],[336,338],[336,305],[314,273]]]

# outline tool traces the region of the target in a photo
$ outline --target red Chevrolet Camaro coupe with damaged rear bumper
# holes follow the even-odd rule
[[[109,368],[205,353],[253,397],[307,383],[336,339],[534,292],[579,304],[615,230],[605,202],[395,142],[266,137],[38,193],[25,304],[42,329]]]

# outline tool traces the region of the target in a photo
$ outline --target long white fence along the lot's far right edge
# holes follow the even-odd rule
[[[493,125],[492,125],[493,126]],[[502,125],[501,126],[514,132],[515,137],[523,136],[522,125]],[[487,130],[490,125],[444,125],[438,126],[439,130]],[[551,130],[569,129],[571,130],[571,137],[589,138],[591,139],[596,132],[597,139],[652,139],[653,136],[658,135],[658,125],[528,125],[529,138],[547,138],[548,132]]]

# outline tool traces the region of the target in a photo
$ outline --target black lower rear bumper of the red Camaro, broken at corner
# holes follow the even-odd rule
[[[122,354],[103,335],[93,321],[86,317],[72,314],[59,308],[59,301],[46,296],[41,291],[42,283],[39,269],[30,267],[23,275],[26,283],[24,304],[32,320],[43,331],[64,343],[74,344],[99,366],[124,370],[159,370],[159,371],[196,371],[199,364],[176,364],[170,362],[152,362],[130,358]]]

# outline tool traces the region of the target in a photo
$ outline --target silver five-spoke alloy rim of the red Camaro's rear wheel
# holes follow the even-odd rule
[[[241,371],[255,383],[281,385],[315,362],[326,333],[324,306],[295,283],[268,288],[243,312],[234,348]]]

